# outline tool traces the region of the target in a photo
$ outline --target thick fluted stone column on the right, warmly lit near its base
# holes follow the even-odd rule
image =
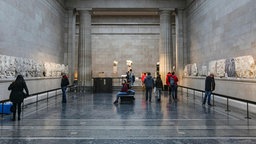
[[[159,65],[163,82],[168,72],[172,71],[172,33],[171,11],[160,11]]]

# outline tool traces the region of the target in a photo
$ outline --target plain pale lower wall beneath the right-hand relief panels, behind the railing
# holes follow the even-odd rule
[[[183,81],[185,83],[185,86],[192,87],[195,89],[204,90],[205,86],[205,78],[204,77],[183,77]],[[256,101],[255,97],[255,89],[256,89],[256,80],[253,79],[225,79],[225,78],[215,78],[215,93],[239,98],[239,99],[245,99],[245,100],[251,100]],[[183,89],[186,92],[186,89]],[[190,96],[193,95],[193,91],[189,91],[191,93]],[[196,93],[197,96],[202,97],[202,93]],[[220,103],[223,103],[224,105],[227,104],[227,99],[218,99],[218,97],[215,96],[215,101],[218,101]],[[246,109],[245,103],[240,103],[238,101],[232,102],[233,100],[229,99],[229,105],[232,105],[237,108],[243,108]],[[232,102],[232,103],[231,103]],[[252,108],[249,108],[250,111],[255,111],[255,105]]]

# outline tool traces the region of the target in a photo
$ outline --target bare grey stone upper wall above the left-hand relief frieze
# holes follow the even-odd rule
[[[0,54],[63,63],[65,9],[59,2],[1,0]]]

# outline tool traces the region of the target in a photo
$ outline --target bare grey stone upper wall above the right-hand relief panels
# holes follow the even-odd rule
[[[255,7],[254,0],[193,1],[187,9],[188,64],[208,66],[211,61],[222,60],[218,61],[218,66],[223,66],[221,63],[227,58],[250,55],[255,59]],[[223,75],[223,71],[224,67],[221,67],[213,72]],[[238,71],[237,75],[253,77]]]

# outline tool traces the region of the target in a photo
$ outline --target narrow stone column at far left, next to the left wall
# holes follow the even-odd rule
[[[76,50],[75,50],[75,28],[76,28],[76,12],[74,9],[68,10],[68,67],[69,67],[69,78],[70,82],[74,81],[74,73],[77,72],[75,67]]]

